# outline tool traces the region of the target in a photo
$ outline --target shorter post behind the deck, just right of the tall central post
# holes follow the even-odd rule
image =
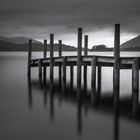
[[[84,36],[84,56],[88,55],[88,36]],[[84,90],[87,90],[87,66],[84,66]]]

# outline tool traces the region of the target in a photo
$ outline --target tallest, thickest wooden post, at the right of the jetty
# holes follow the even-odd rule
[[[120,90],[120,24],[115,24],[114,36],[114,72],[113,72],[113,93],[114,93],[114,107],[119,105],[119,90]]]

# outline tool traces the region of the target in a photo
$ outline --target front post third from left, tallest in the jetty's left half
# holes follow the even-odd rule
[[[53,81],[53,43],[54,34],[50,34],[50,80]]]

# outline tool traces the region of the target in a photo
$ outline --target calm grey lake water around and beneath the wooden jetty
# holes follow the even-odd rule
[[[96,54],[113,55],[111,52]],[[121,55],[140,56],[140,53],[123,52]],[[34,58],[39,56],[40,53],[33,54]],[[57,80],[58,69],[55,68],[54,72]],[[88,67],[89,91],[90,72]],[[48,73],[49,69],[47,79]],[[131,97],[131,73],[131,70],[121,70],[121,100]],[[27,53],[1,52],[0,74],[0,140],[140,139],[140,122],[131,117],[131,110],[120,114],[114,112],[112,103],[107,103],[106,99],[96,108],[88,99],[77,99],[68,94],[74,94],[73,90],[62,95],[57,84],[52,94],[48,85],[41,87],[36,68],[32,70],[31,81],[28,81]],[[76,77],[76,68],[74,75]],[[107,96],[109,102],[108,96],[112,96],[113,90],[112,75],[111,68],[103,68],[101,96]],[[67,68],[67,82],[69,80]],[[76,78],[74,87],[76,89]]]

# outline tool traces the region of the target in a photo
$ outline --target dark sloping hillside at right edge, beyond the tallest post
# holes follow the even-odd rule
[[[140,50],[140,35],[121,44],[121,50]]]

